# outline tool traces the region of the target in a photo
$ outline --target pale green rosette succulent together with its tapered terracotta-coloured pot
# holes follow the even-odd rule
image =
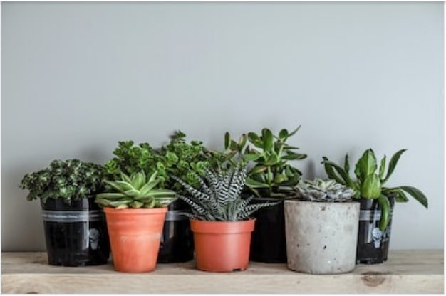
[[[121,172],[120,179],[104,182],[109,190],[95,202],[105,211],[115,270],[155,270],[167,206],[175,192],[158,189],[157,171],[148,178],[144,171],[130,176]]]

